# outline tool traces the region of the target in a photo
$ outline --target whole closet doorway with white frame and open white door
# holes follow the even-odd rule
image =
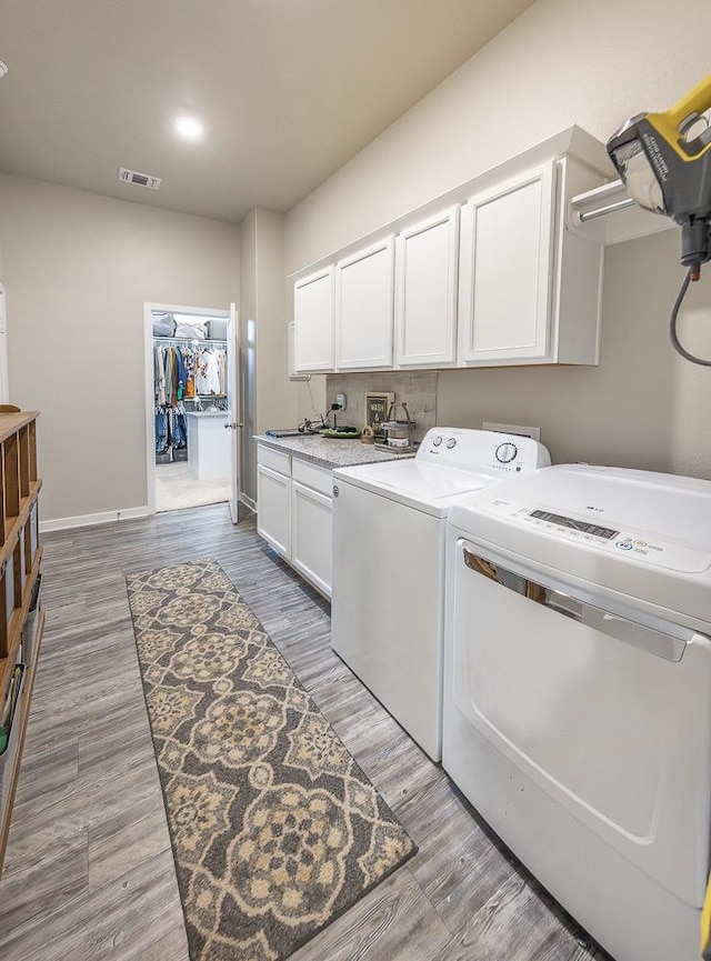
[[[236,519],[234,308],[147,303],[144,324],[149,510],[226,502]]]

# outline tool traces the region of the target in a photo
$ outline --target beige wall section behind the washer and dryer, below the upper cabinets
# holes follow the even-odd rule
[[[711,478],[711,371],[679,358],[669,313],[683,277],[677,231],[609,247],[599,367],[441,371],[438,421],[541,428],[553,461]],[[688,294],[705,321],[689,340],[711,357],[711,270]],[[704,336],[701,336],[701,334]]]

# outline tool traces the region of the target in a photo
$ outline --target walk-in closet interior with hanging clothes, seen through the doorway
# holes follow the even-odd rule
[[[230,498],[228,320],[151,311],[156,510]]]

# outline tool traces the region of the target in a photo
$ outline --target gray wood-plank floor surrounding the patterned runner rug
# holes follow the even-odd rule
[[[188,961],[126,574],[211,557],[419,852],[293,961],[601,961],[329,645],[227,504],[43,538],[44,638],[0,881],[3,961]]]

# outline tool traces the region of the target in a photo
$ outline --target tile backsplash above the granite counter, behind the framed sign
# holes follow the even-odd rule
[[[326,379],[328,408],[336,403],[337,394],[346,394],[346,410],[337,414],[341,424],[362,428],[365,423],[365,393],[378,391],[394,393],[397,403],[407,403],[414,421],[415,440],[422,440],[437,423],[437,371],[330,373]],[[402,408],[397,409],[395,417],[403,419]]]

